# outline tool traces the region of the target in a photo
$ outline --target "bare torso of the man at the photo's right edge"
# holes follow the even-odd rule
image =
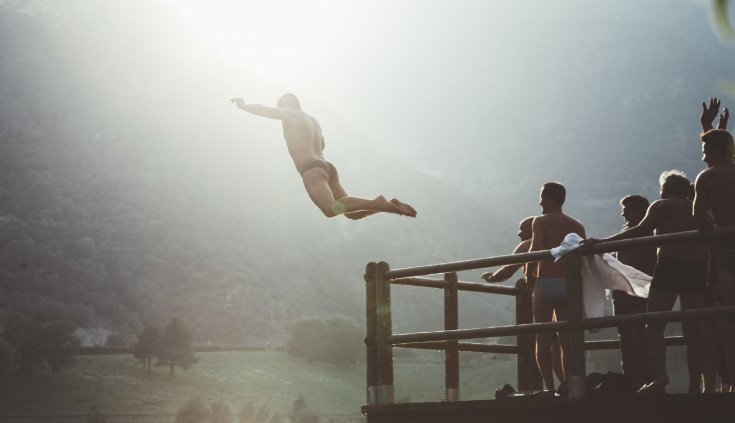
[[[735,165],[702,171],[697,177],[697,195],[706,197],[717,226],[735,226]]]

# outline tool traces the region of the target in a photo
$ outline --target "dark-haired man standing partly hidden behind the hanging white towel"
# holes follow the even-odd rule
[[[620,200],[625,229],[637,226],[646,215],[648,200],[640,195],[628,195]],[[649,231],[643,236],[653,235]],[[656,267],[656,247],[642,247],[617,252],[621,263],[634,267],[647,275],[653,275]],[[646,299],[634,297],[623,291],[614,290],[613,310],[616,316],[646,312]],[[644,323],[622,324],[618,326],[620,336],[620,362],[623,373],[630,378],[637,388],[650,382],[651,359],[646,346],[646,325]]]

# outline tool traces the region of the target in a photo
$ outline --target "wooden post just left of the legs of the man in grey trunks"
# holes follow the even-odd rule
[[[516,324],[533,323],[533,305],[531,292],[525,279],[518,279],[515,285],[516,295]],[[533,334],[516,336],[518,344],[517,372],[518,391],[529,393],[540,388],[541,375],[536,365],[536,337]]]

